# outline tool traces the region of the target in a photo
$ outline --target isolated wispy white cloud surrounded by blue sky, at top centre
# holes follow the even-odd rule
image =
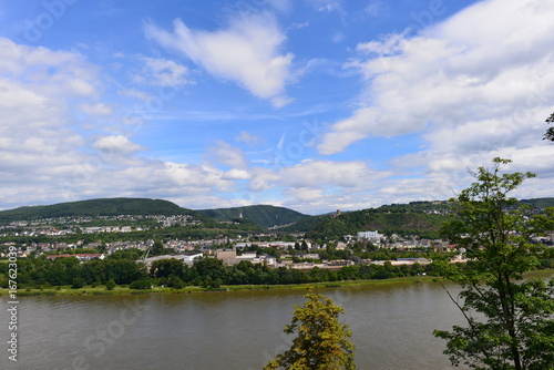
[[[146,35],[162,47],[176,50],[211,74],[230,80],[255,96],[281,106],[288,102],[285,85],[291,79],[293,54],[280,54],[286,40],[268,13],[238,14],[226,29],[189,29],[182,20],[173,32],[145,25]]]

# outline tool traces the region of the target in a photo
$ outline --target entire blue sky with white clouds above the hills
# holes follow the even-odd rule
[[[554,196],[554,0],[0,0],[0,209]]]

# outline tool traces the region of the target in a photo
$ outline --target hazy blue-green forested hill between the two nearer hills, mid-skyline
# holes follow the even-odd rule
[[[201,209],[199,212],[219,220],[232,220],[242,216],[266,228],[296,223],[302,218],[309,217],[289,208],[270,205]]]

